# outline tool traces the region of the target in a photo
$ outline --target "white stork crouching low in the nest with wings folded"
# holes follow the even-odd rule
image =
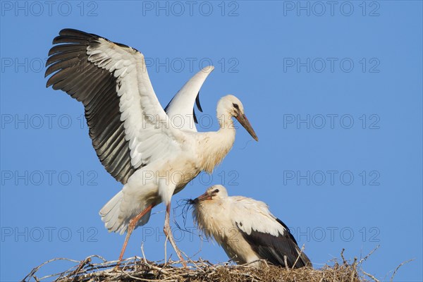
[[[264,202],[252,198],[228,197],[226,188],[214,185],[190,201],[197,226],[207,238],[223,247],[237,264],[260,267],[259,259],[288,267],[312,266],[301,252],[289,228],[269,211]]]

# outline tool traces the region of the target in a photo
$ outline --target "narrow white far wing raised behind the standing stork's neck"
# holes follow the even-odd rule
[[[175,123],[174,126],[176,128],[197,132],[197,128],[195,127],[197,118],[195,117],[194,103],[202,111],[199,99],[200,88],[213,70],[213,66],[207,66],[196,73],[180,88],[164,109],[169,118],[171,118],[171,121]]]

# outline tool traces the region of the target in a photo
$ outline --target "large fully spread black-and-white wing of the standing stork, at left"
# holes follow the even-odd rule
[[[183,136],[168,126],[139,51],[71,29],[53,44],[47,87],[84,104],[92,145],[116,180],[126,183],[138,168],[178,150]]]

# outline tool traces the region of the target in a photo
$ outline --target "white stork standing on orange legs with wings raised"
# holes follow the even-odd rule
[[[134,228],[147,223],[152,208],[164,202],[166,240],[183,261],[170,229],[171,197],[201,171],[212,173],[226,157],[235,141],[232,117],[258,140],[243,104],[233,95],[219,100],[216,132],[197,133],[188,124],[175,128],[154,93],[139,51],[72,29],[61,30],[53,44],[58,45],[49,51],[45,75],[53,75],[47,87],[63,90],[84,104],[97,156],[111,176],[124,184],[99,212],[110,232],[127,232],[119,260]],[[197,73],[187,82],[168,105],[168,112],[191,114],[210,71]],[[193,124],[190,118],[185,122]]]

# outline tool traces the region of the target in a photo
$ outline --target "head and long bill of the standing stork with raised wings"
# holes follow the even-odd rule
[[[248,121],[247,116],[244,114],[244,106],[243,103],[240,102],[240,99],[233,95],[226,95],[225,97],[222,97],[217,104],[218,118],[221,118],[222,114],[228,114],[229,116],[236,118],[239,123],[243,125],[243,128],[250,133],[251,137],[253,137],[256,141],[259,140],[254,129],[252,129],[250,121]]]

